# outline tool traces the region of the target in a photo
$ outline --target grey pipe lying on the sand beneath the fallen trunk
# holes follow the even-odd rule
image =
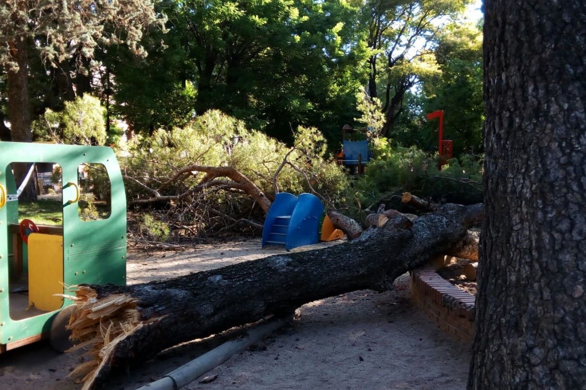
[[[182,365],[177,370],[169,372],[169,374],[165,375],[158,381],[144,385],[137,390],[179,390],[190,382],[195,381],[195,379],[199,378],[207,371],[224,363],[224,361],[228,360],[233,354],[246,350],[246,348],[250,347],[252,344],[260,341],[265,335],[279,329],[292,318],[292,315],[279,317],[250,329],[246,332],[246,335],[240,339],[226,341],[226,343],[221,346],[218,346],[189,363]]]

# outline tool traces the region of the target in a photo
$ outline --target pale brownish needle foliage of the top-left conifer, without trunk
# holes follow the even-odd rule
[[[104,44],[125,43],[146,56],[140,42],[142,32],[163,22],[151,0],[7,0],[0,5],[0,64],[18,68],[10,51],[16,39],[38,38],[35,50],[43,61],[55,66],[71,53],[91,58],[96,47]]]

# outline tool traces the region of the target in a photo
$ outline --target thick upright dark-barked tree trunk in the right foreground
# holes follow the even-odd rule
[[[469,389],[586,388],[586,13],[485,0],[486,219]]]

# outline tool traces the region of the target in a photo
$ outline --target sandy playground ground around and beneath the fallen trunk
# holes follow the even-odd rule
[[[302,251],[329,245],[295,249]],[[206,244],[182,252],[129,252],[128,283],[209,270],[283,253],[260,249],[260,240]],[[445,336],[410,301],[407,275],[393,291],[352,292],[304,305],[301,318],[185,389],[464,389],[469,351]],[[169,329],[172,332],[172,329]],[[135,390],[175,370],[227,336],[171,348],[139,367],[112,375],[106,389]],[[67,374],[81,353],[59,354],[47,341],[0,355],[0,389],[77,390]],[[204,375],[204,376],[206,376]]]

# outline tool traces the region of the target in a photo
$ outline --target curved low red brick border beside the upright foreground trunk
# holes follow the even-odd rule
[[[411,291],[417,306],[444,333],[472,343],[476,297],[432,270],[410,271]]]

